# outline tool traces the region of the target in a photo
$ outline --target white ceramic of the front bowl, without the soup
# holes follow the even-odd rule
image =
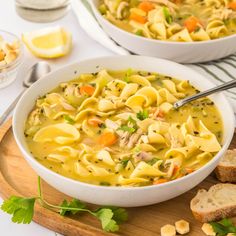
[[[95,58],[65,66],[46,75],[32,85],[20,99],[13,116],[13,132],[23,156],[46,182],[59,191],[80,200],[100,204],[124,207],[150,205],[174,198],[205,179],[216,167],[221,156],[227,150],[234,134],[234,114],[225,96],[221,93],[211,96],[224,123],[223,147],[204,167],[171,182],[146,187],[105,187],[72,180],[59,175],[34,159],[27,148],[24,136],[25,121],[32,110],[35,100],[51,91],[64,81],[72,80],[81,73],[93,73],[101,69],[125,70],[133,68],[150,72],[159,72],[178,79],[190,80],[200,90],[213,87],[214,84],[197,72],[174,62],[141,56],[114,56]]]

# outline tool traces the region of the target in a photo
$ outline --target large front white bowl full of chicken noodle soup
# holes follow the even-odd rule
[[[234,114],[223,94],[173,109],[213,86],[163,59],[78,62],[25,92],[14,136],[35,172],[69,196],[125,207],[162,202],[206,178],[230,144]]]

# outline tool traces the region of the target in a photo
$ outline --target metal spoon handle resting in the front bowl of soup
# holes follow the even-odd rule
[[[179,101],[175,102],[173,106],[174,106],[174,108],[177,109],[179,107],[184,106],[186,103],[197,100],[198,98],[206,97],[210,94],[213,94],[213,93],[216,93],[216,92],[219,92],[219,91],[223,91],[223,90],[227,90],[227,89],[231,89],[231,88],[234,88],[234,87],[236,87],[236,80],[231,80],[227,83],[224,83],[222,85],[216,86],[216,87],[211,88],[211,89],[208,89],[204,92],[197,93],[193,96],[189,96],[189,97],[186,97],[182,100],[179,100]]]

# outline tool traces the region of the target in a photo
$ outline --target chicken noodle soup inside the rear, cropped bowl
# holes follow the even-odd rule
[[[100,12],[136,35],[192,42],[236,33],[236,0],[102,0]]]

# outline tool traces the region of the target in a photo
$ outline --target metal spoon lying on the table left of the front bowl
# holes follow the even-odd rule
[[[29,88],[38,79],[42,78],[45,74],[49,73],[50,71],[51,71],[50,65],[44,61],[37,62],[29,69],[29,71],[27,72],[25,79],[23,81],[23,86],[24,86],[23,91],[15,98],[15,100],[11,103],[11,105],[7,108],[7,110],[0,117],[0,125],[2,125],[4,123],[6,118],[9,116],[9,114],[15,108],[18,100],[21,98],[21,96],[23,95],[25,90],[27,88]]]

